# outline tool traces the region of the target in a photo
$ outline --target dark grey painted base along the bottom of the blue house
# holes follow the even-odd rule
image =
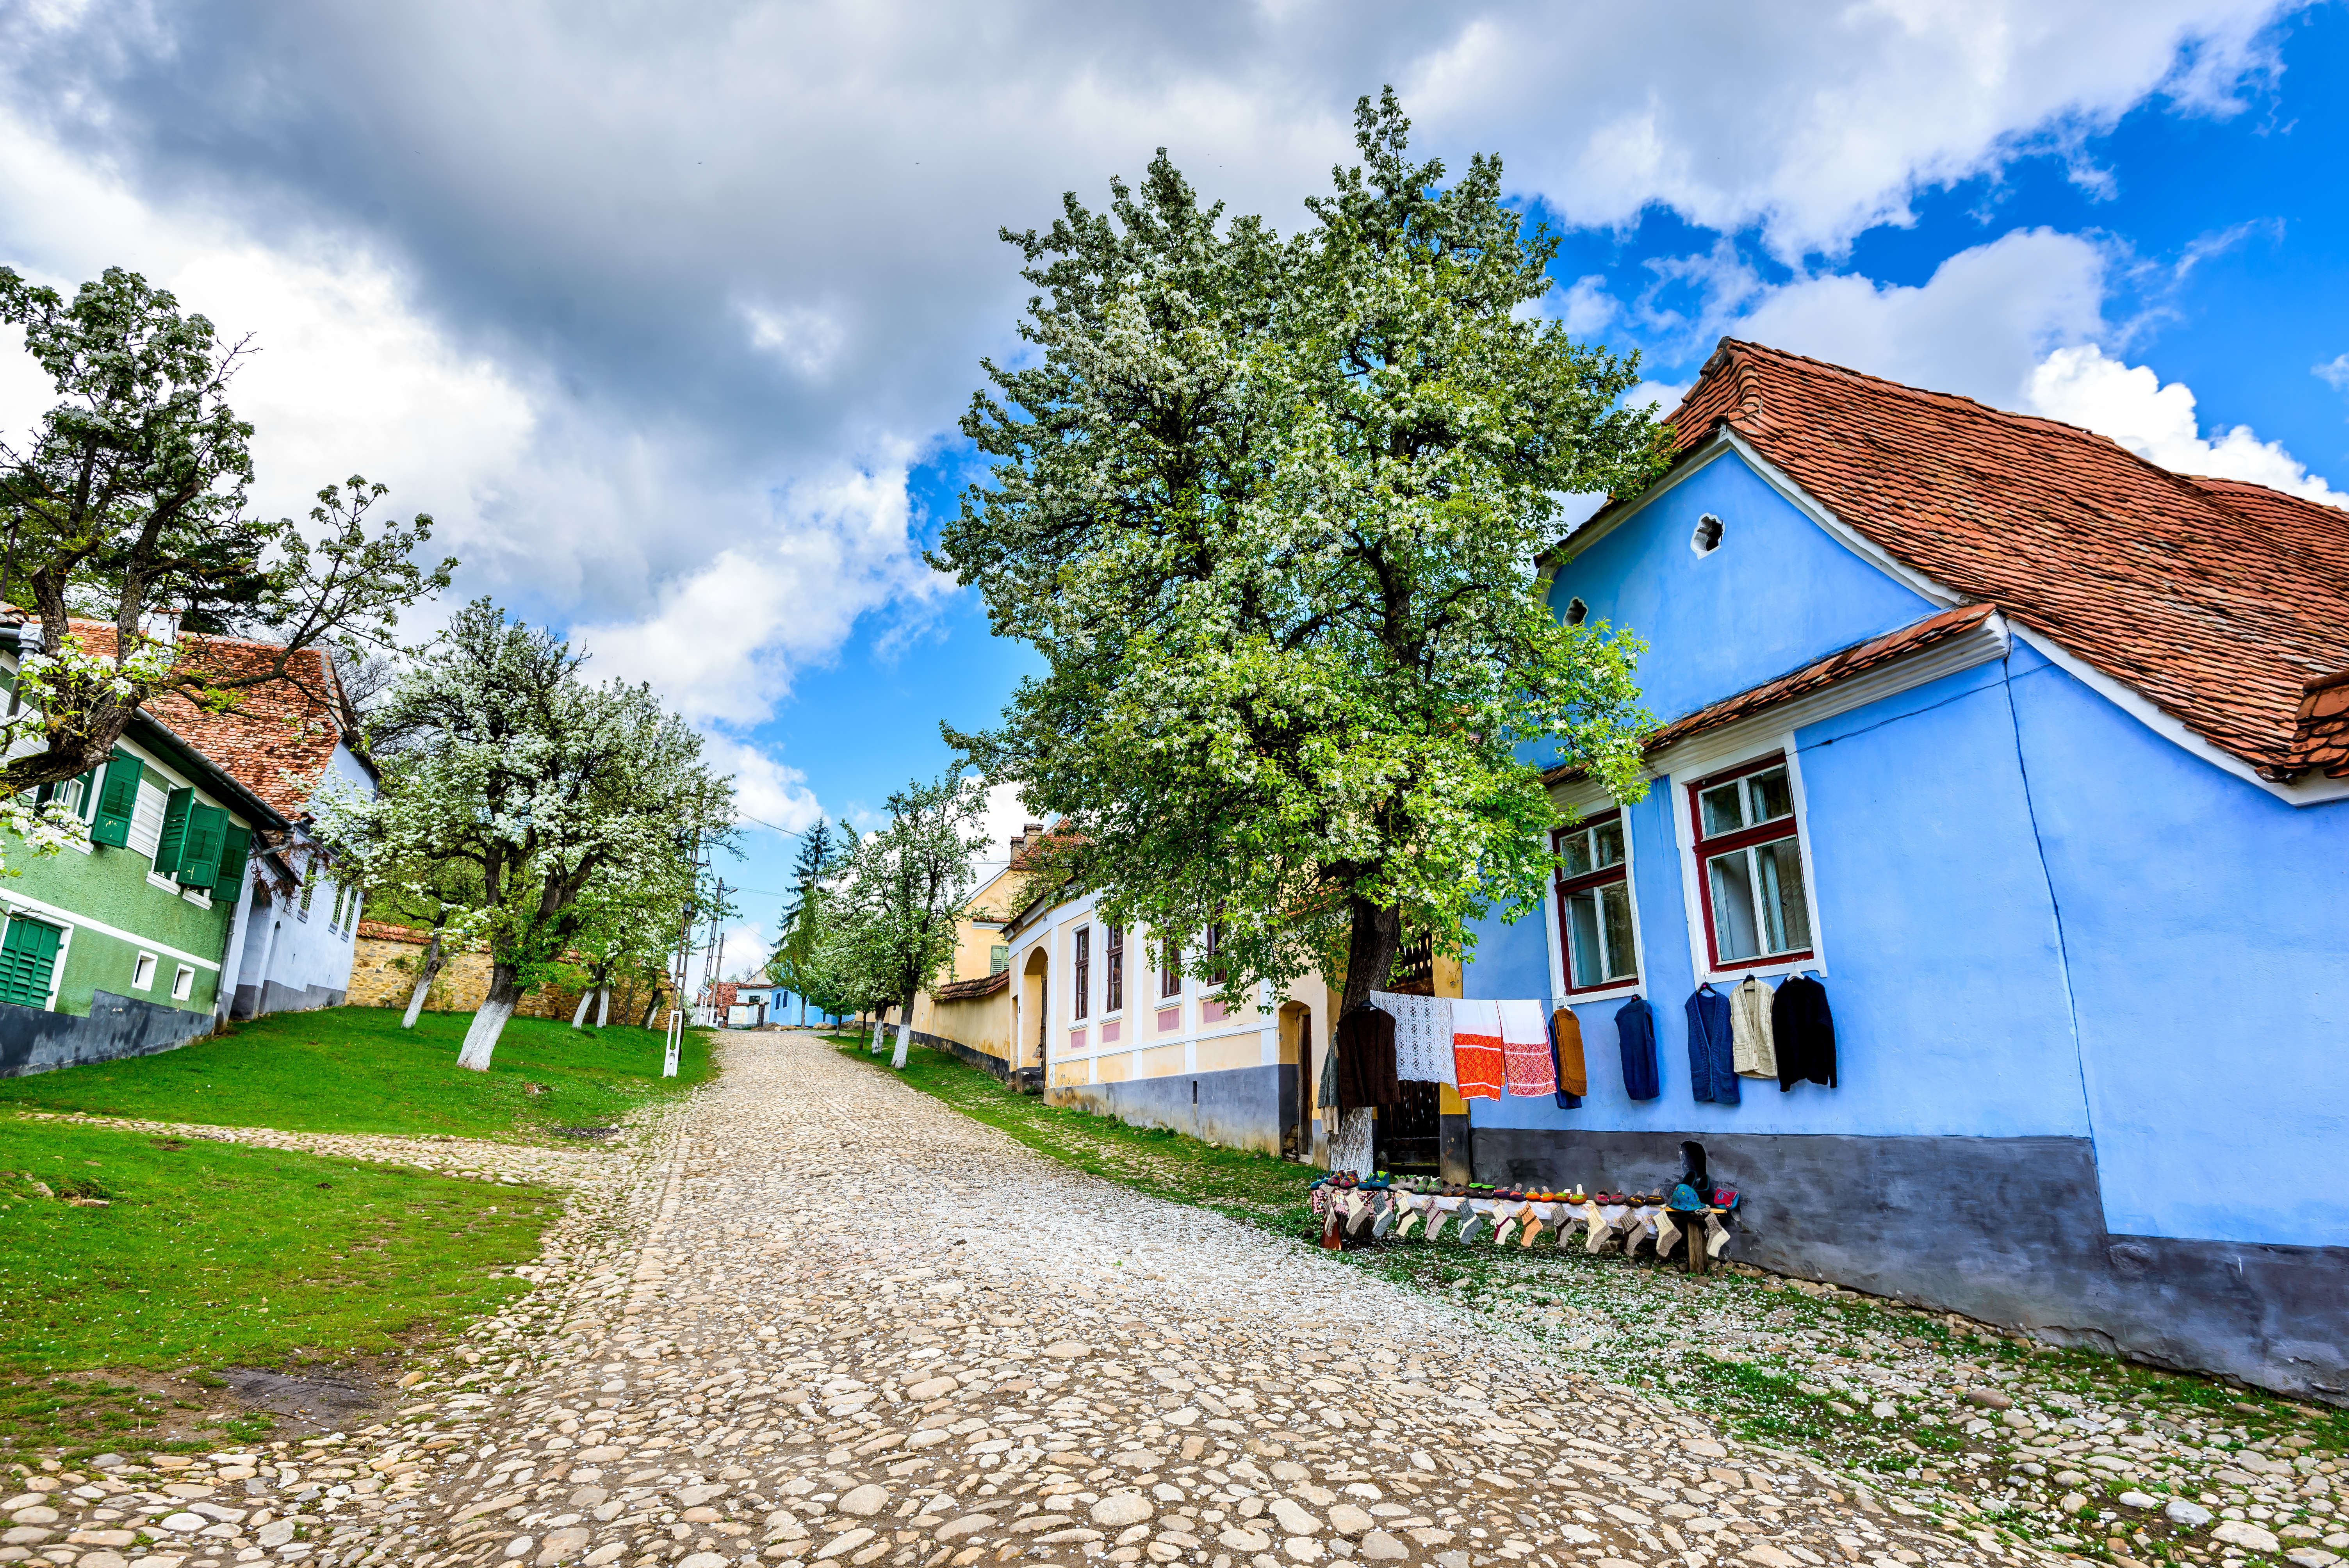
[[[1696,1134],[1475,1129],[1475,1178],[1656,1192]],[[2349,1246],[2105,1232],[2086,1138],[1703,1138],[1731,1258],[2349,1404]]]

